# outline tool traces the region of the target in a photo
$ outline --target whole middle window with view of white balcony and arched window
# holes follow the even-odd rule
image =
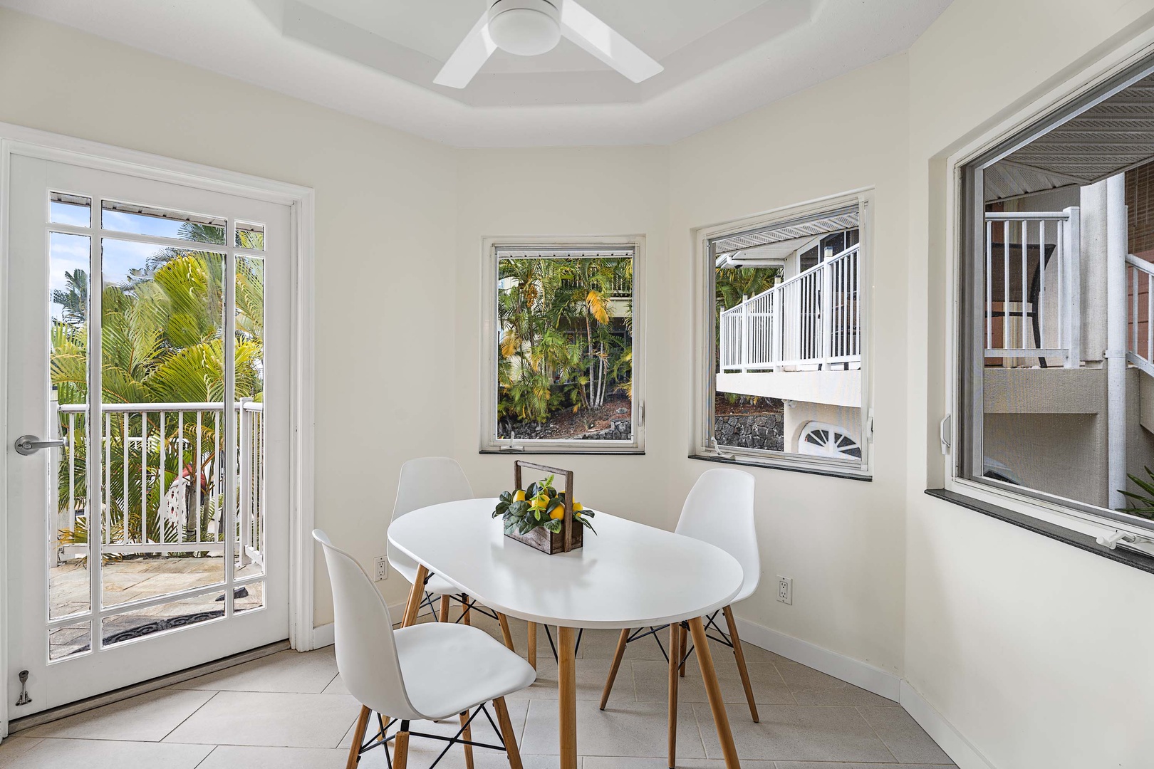
[[[700,233],[696,457],[868,476],[868,199]]]

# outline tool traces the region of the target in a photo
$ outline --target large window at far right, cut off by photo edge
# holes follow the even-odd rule
[[[1152,71],[962,166],[951,453],[981,490],[1138,529],[1154,528]]]

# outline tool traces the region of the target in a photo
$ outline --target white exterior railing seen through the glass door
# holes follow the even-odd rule
[[[237,412],[235,552],[263,563],[264,405]],[[61,557],[87,555],[88,405],[59,405],[52,463]],[[98,493],[106,555],[224,551],[224,405],[104,404]]]

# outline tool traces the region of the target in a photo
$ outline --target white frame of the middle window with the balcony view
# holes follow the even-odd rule
[[[872,478],[874,447],[874,188],[861,188],[804,203],[782,206],[772,211],[726,221],[719,225],[698,227],[694,231],[694,432],[689,457],[713,461],[733,462],[777,469],[799,470],[856,480]],[[719,238],[735,235],[750,229],[772,227],[786,221],[820,214],[847,205],[856,204],[860,212],[859,242],[861,244],[861,323],[862,333],[862,402],[861,402],[861,448],[860,463],[845,460],[823,459],[785,451],[742,448],[736,446],[714,447],[713,404],[717,398],[714,361],[714,278],[715,266],[711,258],[710,242]]]

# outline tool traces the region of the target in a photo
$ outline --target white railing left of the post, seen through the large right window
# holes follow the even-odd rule
[[[986,214],[986,357],[1081,362],[1078,208]]]

